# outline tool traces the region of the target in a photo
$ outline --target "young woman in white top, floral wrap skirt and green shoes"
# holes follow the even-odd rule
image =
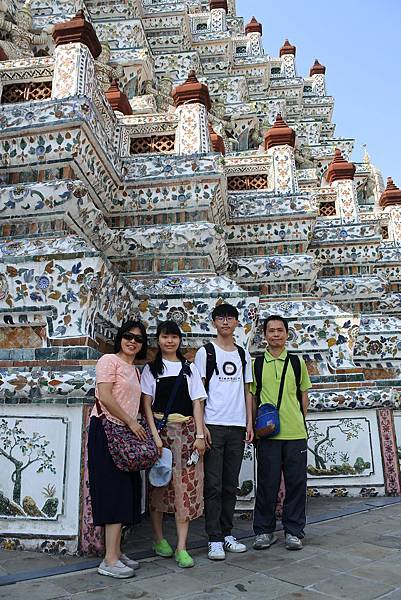
[[[194,564],[186,550],[189,521],[203,513],[203,401],[206,392],[195,365],[186,362],[180,350],[182,333],[177,323],[160,323],[156,335],[158,352],[154,361],[145,366],[141,378],[143,406],[160,452],[163,446],[172,451],[173,474],[167,486],[151,486],[150,489],[153,549],[159,556],[173,556],[173,549],[163,536],[163,514],[174,513],[177,527],[175,559],[180,567],[186,568]],[[155,417],[163,417],[181,369],[184,370],[183,380],[167,425],[159,432]]]

